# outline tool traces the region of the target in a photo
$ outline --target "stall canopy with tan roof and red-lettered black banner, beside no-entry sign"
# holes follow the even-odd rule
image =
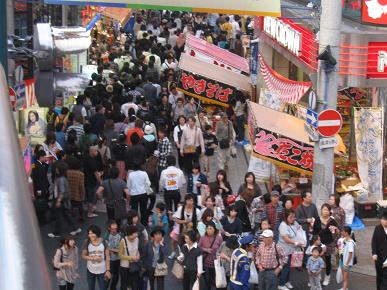
[[[257,103],[249,105],[249,137],[252,154],[280,167],[313,173],[313,144],[304,121]]]

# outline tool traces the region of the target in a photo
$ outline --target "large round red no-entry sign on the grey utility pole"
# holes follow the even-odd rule
[[[340,113],[331,109],[322,111],[317,120],[317,131],[324,137],[337,134],[343,125],[343,118]]]

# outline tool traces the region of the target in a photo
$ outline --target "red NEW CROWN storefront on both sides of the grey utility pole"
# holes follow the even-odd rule
[[[260,87],[263,90],[260,95],[269,94],[271,98],[277,98],[279,110],[305,118],[307,97],[310,90],[315,91],[317,82],[318,34],[313,33],[313,23],[300,25],[290,19],[273,17],[259,17],[257,22],[261,61],[271,70],[269,76],[282,77],[287,79],[287,83],[295,81],[298,86],[290,93],[294,97],[284,100],[284,93],[281,92],[283,83],[271,80],[270,86],[267,80],[270,77],[265,78],[261,65],[263,77]],[[359,198],[368,201],[382,199],[386,186],[382,182],[387,87],[385,37],[383,29],[361,25],[354,28],[343,21],[337,109],[343,117],[343,128],[339,134],[345,150],[341,149],[341,153],[335,155],[335,176],[338,180],[356,179],[362,190],[367,192],[367,196],[363,191]],[[302,90],[308,83],[311,84],[310,90]],[[290,87],[287,89],[289,91]],[[367,124],[367,128],[372,128],[375,134],[371,136],[370,130],[362,124]],[[371,144],[380,146],[372,147]],[[369,158],[371,155],[375,158]]]

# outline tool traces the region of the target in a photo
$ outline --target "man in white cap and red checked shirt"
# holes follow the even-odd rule
[[[274,242],[272,230],[264,230],[261,237],[263,242],[259,244],[255,256],[255,264],[259,270],[259,289],[277,290],[278,275],[288,261],[288,256]]]

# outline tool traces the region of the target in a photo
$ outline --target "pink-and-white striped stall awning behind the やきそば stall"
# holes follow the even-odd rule
[[[193,57],[234,72],[250,74],[247,59],[213,45],[204,39],[188,34],[185,45],[185,52]]]

